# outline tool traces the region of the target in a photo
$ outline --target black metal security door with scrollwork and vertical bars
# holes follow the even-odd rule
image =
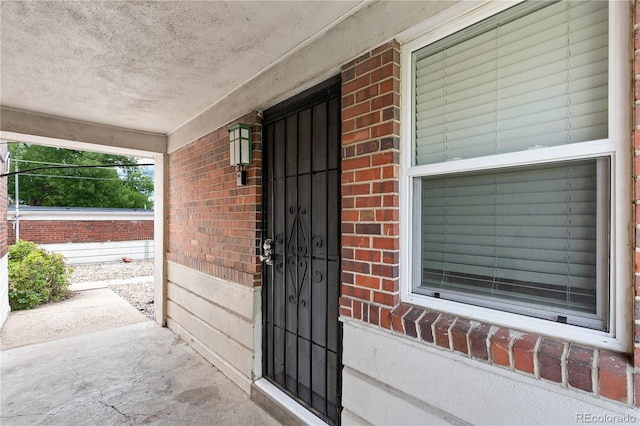
[[[263,134],[265,376],[339,423],[339,80],[265,111]]]

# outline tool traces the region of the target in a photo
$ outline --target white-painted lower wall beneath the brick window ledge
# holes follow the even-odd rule
[[[354,320],[344,321],[343,363],[343,424],[557,425],[589,423],[586,415],[640,423],[633,408]]]

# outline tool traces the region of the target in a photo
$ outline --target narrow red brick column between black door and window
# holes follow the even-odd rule
[[[400,50],[342,68],[340,314],[391,328],[399,288]]]

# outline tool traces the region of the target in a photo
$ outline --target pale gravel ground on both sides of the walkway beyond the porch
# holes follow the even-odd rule
[[[152,275],[153,260],[75,265],[71,274],[71,283],[108,281]],[[129,302],[147,318],[153,320],[153,278],[135,284],[110,285],[108,288]]]

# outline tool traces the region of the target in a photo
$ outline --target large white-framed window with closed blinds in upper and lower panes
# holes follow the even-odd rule
[[[527,2],[412,56],[413,291],[608,330],[611,157],[500,156],[608,138],[608,4]],[[419,272],[418,272],[419,271]]]

